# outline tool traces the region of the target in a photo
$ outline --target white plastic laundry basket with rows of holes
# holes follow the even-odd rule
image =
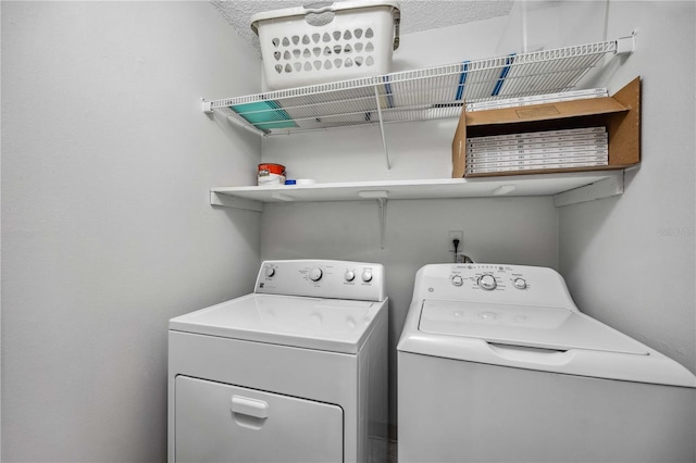
[[[312,3],[254,14],[271,90],[388,74],[399,46],[397,1]]]

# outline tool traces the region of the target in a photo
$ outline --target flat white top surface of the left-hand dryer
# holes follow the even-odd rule
[[[248,295],[170,321],[170,329],[357,353],[386,301]]]

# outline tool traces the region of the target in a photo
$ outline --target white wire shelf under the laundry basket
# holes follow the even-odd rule
[[[610,40],[203,101],[203,108],[265,136],[458,117],[464,101],[568,91],[618,49]]]

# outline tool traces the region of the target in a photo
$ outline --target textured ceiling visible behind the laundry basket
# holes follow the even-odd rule
[[[251,15],[263,11],[301,7],[313,0],[211,0],[211,3],[259,55],[259,38],[251,32]],[[401,34],[508,15],[512,0],[401,0]]]

